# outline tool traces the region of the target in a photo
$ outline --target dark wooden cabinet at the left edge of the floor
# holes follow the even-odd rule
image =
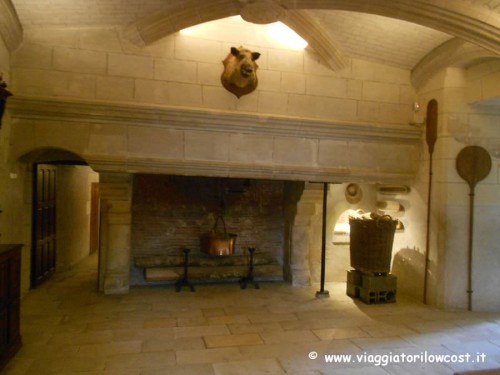
[[[0,245],[0,370],[21,346],[22,245]]]

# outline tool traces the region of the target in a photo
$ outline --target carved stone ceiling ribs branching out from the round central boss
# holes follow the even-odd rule
[[[463,1],[434,4],[429,0],[188,0],[172,2],[124,30],[138,45],[151,44],[181,29],[238,15],[256,2],[279,4],[282,21],[309,42],[326,65],[341,69],[346,56],[307,9],[347,10],[413,22],[468,41],[500,56],[500,14]],[[471,16],[473,14],[473,16]]]

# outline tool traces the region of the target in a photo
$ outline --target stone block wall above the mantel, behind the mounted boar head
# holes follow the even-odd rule
[[[38,97],[394,125],[411,120],[409,71],[353,59],[333,72],[309,50],[273,44],[259,25],[218,22],[144,48],[115,29],[27,30],[13,56],[13,85],[18,95]],[[223,32],[224,22],[234,31]],[[230,46],[240,44],[261,53],[259,86],[236,99],[219,77]]]

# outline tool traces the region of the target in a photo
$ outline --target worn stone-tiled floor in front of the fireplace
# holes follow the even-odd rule
[[[96,260],[22,302],[24,346],[0,372],[78,375],[453,374],[500,368],[500,313],[445,312],[398,296],[365,305],[345,283],[95,291]],[[484,355],[483,355],[484,354]],[[438,355],[447,363],[437,363]],[[481,359],[483,355],[484,360]],[[467,361],[468,360],[468,361]]]

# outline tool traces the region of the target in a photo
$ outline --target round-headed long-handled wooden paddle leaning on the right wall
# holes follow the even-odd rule
[[[468,253],[468,278],[467,294],[468,309],[472,310],[472,238],[474,233],[474,188],[476,184],[485,179],[491,170],[491,157],[488,151],[480,146],[467,146],[457,156],[457,172],[470,188],[469,202],[469,253]]]

